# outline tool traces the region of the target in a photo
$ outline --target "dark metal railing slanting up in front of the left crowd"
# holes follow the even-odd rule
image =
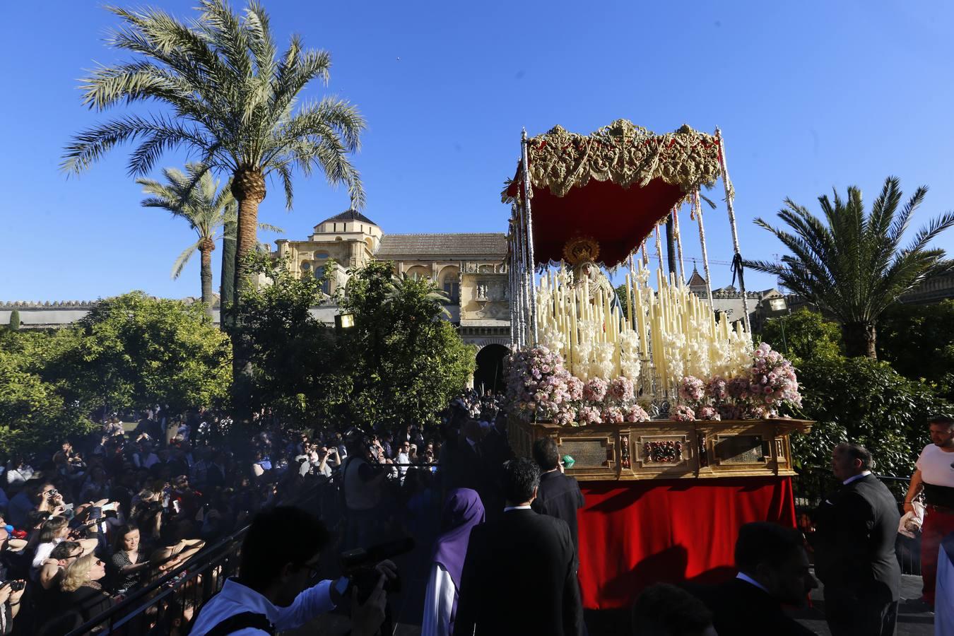
[[[312,509],[330,526],[339,512],[337,485],[335,479],[317,482],[303,496],[281,503]],[[186,633],[201,606],[218,593],[226,579],[238,573],[239,551],[249,525],[204,547],[189,561],[126,595],[67,636],[169,634],[174,628]]]

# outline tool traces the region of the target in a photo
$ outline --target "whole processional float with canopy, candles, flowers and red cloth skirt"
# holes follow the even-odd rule
[[[510,444],[529,456],[552,437],[574,460],[584,606],[628,607],[658,581],[732,576],[743,523],[795,524],[789,434],[811,422],[778,417],[800,400],[795,369],[753,346],[721,133],[657,135],[618,120],[590,135],[524,133],[521,151],[503,194]],[[716,316],[709,289],[700,189],[720,176],[742,288],[735,324]],[[698,226],[705,297],[681,267],[683,207]],[[663,273],[670,215],[677,276]],[[625,268],[622,294],[602,268]]]

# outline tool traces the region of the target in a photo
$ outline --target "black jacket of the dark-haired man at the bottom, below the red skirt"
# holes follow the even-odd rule
[[[814,636],[787,616],[781,604],[755,585],[733,579],[721,585],[689,587],[713,613],[716,632],[729,636]]]

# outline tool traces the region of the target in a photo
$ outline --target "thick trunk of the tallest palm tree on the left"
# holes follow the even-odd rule
[[[259,203],[265,198],[265,177],[257,167],[240,167],[232,175],[232,195],[239,202],[239,221],[236,236],[235,288],[232,312],[229,318],[232,337],[232,404],[239,422],[252,420],[252,362],[249,348],[239,324],[241,290],[247,284],[244,256],[258,243]]]

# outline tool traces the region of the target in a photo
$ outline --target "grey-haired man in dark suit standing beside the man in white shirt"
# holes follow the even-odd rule
[[[832,451],[840,490],[815,514],[816,573],[825,585],[825,619],[832,636],[893,636],[901,568],[895,537],[898,503],[871,474],[871,453],[842,443]]]

